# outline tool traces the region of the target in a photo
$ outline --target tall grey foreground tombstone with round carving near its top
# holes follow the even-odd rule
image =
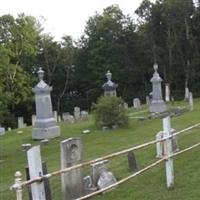
[[[83,145],[80,138],[69,138],[60,143],[61,169],[82,162]],[[84,195],[83,169],[74,169],[61,175],[63,200],[72,200]]]

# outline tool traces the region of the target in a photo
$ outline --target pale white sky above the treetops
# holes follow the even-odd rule
[[[40,20],[45,33],[55,40],[63,35],[80,38],[86,21],[95,12],[118,4],[124,14],[133,16],[142,0],[0,0],[0,16],[19,13],[32,15]]]

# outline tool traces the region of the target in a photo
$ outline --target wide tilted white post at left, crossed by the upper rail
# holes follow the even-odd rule
[[[35,146],[27,151],[30,179],[43,175],[40,146]],[[33,200],[46,200],[44,181],[31,184]]]

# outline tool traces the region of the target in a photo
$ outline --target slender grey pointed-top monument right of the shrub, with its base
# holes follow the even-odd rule
[[[153,77],[151,78],[153,91],[152,91],[152,101],[151,101],[149,109],[150,109],[150,112],[160,113],[160,112],[164,112],[167,108],[162,98],[162,88],[161,88],[162,78],[157,72],[158,70],[157,63],[154,64],[154,70],[155,72],[153,74]]]

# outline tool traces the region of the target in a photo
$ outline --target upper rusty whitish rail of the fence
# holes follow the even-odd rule
[[[26,185],[30,185],[32,183],[35,183],[35,182],[40,182],[46,178],[51,178],[53,176],[58,176],[58,175],[61,175],[63,173],[66,173],[66,172],[69,172],[69,171],[72,171],[74,169],[78,169],[78,168],[82,168],[82,167],[86,167],[90,164],[93,164],[93,163],[96,163],[96,162],[100,162],[100,161],[103,161],[103,160],[108,160],[108,159],[112,159],[114,157],[117,157],[119,155],[123,155],[123,154],[126,154],[130,151],[135,151],[135,150],[139,150],[139,149],[142,149],[142,148],[145,148],[145,147],[148,147],[150,145],[153,145],[153,144],[156,144],[158,142],[163,142],[167,139],[170,139],[172,138],[173,136],[177,136],[177,135],[180,135],[184,132],[187,132],[189,130],[192,130],[194,128],[197,128],[200,126],[200,123],[197,123],[193,126],[190,126],[188,128],[185,128],[181,131],[178,131],[178,132],[175,132],[173,135],[169,136],[169,137],[164,137],[162,139],[159,139],[159,140],[152,140],[150,142],[146,142],[146,143],[143,143],[141,145],[137,145],[137,146],[134,146],[134,147],[131,147],[131,148],[128,148],[128,149],[125,149],[125,150],[122,150],[122,151],[118,151],[116,153],[112,153],[112,154],[109,154],[109,155],[106,155],[106,156],[103,156],[103,157],[100,157],[100,158],[97,158],[97,159],[94,159],[94,160],[90,160],[90,161],[86,161],[86,162],[83,162],[81,164],[77,164],[77,165],[74,165],[72,167],[68,167],[68,168],[65,168],[65,169],[62,169],[62,170],[58,170],[58,171],[54,171],[52,173],[48,173],[46,175],[43,175],[43,176],[38,176],[38,177],[35,177],[34,179],[31,179],[31,180],[28,180],[28,181],[24,181],[21,183],[21,187],[24,187]]]

